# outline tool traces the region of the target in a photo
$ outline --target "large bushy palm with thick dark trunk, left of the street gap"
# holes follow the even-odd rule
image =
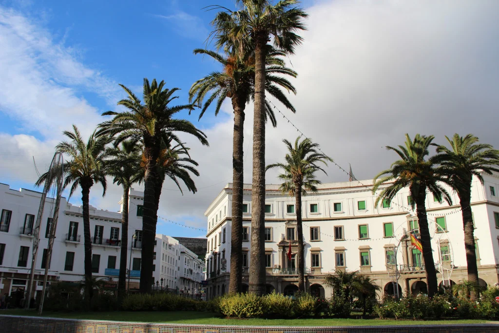
[[[179,88],[165,88],[165,82],[144,79],[143,101],[129,88],[120,84],[128,97],[118,102],[128,110],[124,112],[108,111],[102,115],[114,116],[112,120],[104,121],[100,133],[117,134],[115,144],[126,139],[141,141],[144,145],[144,213],[142,218],[142,256],[140,291],[148,293],[153,284],[153,251],[156,237],[158,211],[156,205],[157,160],[161,153],[161,144],[165,134],[185,132],[194,135],[203,145],[208,145],[206,135],[197,129],[190,121],[174,119],[173,116],[182,110],[193,110],[194,105],[170,106],[177,98],[173,94]]]

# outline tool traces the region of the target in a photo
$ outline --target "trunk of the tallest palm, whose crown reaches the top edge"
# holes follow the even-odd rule
[[[265,45],[268,34],[255,33],[253,182],[251,187],[251,256],[249,292],[265,292]]]

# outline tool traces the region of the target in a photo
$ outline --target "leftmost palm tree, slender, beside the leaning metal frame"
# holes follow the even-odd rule
[[[92,243],[90,240],[90,215],[88,200],[90,188],[93,184],[102,185],[102,196],[106,194],[106,168],[107,149],[106,145],[111,139],[106,135],[96,135],[94,131],[87,142],[81,137],[80,131],[73,125],[73,131],[62,132],[71,141],[62,141],[55,149],[69,156],[70,160],[65,163],[64,188],[72,183],[69,190],[69,197],[81,188],[81,201],[83,208],[83,242],[84,242],[84,272],[85,272],[85,293],[89,300],[93,296],[92,288]],[[36,181],[39,186],[48,177],[48,172],[42,174]]]

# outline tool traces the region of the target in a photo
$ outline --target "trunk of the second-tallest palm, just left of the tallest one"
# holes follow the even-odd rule
[[[232,232],[231,232],[231,274],[229,294],[241,293],[243,284],[243,139],[246,100],[239,96],[232,98],[234,109],[234,135],[232,147]]]

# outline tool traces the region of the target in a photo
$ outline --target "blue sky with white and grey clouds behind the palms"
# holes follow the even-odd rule
[[[211,1],[1,1],[0,182],[33,189],[36,171],[48,167],[61,132],[76,124],[87,136],[124,97],[118,83],[141,93],[144,77],[180,87],[219,69],[192,50],[206,45],[215,12]],[[234,8],[230,0],[214,3]],[[396,156],[384,146],[404,133],[473,133],[499,147],[499,2],[494,0],[305,1],[310,14],[304,43],[289,57],[298,73],[297,112],[277,108],[335,162],[352,165],[358,179],[372,178]],[[164,185],[159,215],[206,228],[204,211],[232,178],[232,110],[226,103],[198,122],[210,147],[192,138],[200,164],[199,192]],[[245,122],[245,182],[251,182],[252,106]],[[299,133],[278,116],[267,129],[266,162],[284,155],[282,138]],[[323,182],[345,181],[337,166]],[[277,183],[276,172],[267,183]],[[136,188],[139,188],[138,186]],[[121,189],[104,198],[94,186],[91,203],[118,210]],[[70,200],[80,205],[79,194]],[[158,232],[201,237],[202,231],[159,220]]]

